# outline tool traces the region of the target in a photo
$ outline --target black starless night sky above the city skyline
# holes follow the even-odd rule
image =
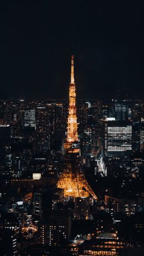
[[[0,98],[144,98],[142,2],[1,1]]]

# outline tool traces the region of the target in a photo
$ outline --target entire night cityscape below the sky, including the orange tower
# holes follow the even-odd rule
[[[141,253],[144,102],[75,97],[0,101],[2,255]]]

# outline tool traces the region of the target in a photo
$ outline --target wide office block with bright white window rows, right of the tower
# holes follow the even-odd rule
[[[132,124],[126,121],[108,121],[105,124],[105,154],[114,156],[132,150]]]

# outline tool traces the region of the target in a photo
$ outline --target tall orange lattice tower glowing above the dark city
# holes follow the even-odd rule
[[[63,173],[57,183],[58,188],[64,189],[65,197],[89,197],[97,199],[89,183],[80,171],[78,124],[76,121],[76,88],[74,82],[74,55],[71,56],[71,82],[69,85],[69,114],[66,142],[64,143],[65,160]]]

